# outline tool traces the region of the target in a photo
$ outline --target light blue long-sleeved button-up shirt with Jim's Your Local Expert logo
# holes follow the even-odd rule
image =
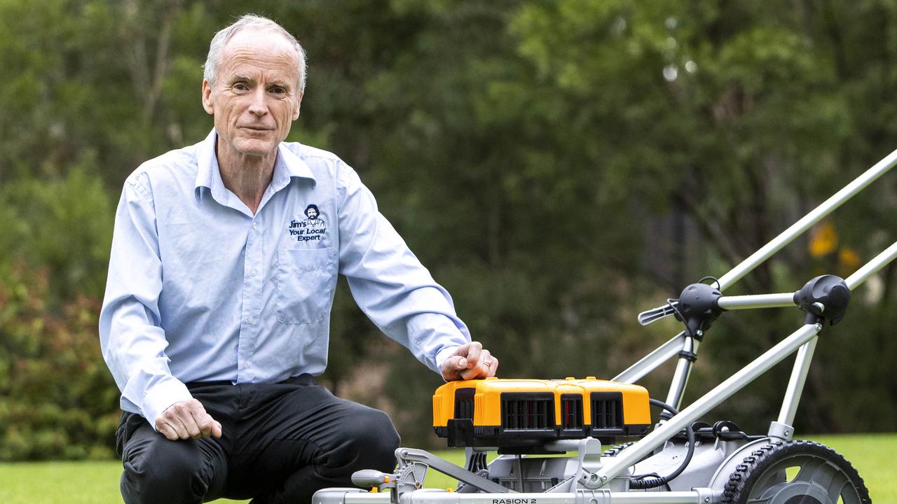
[[[253,215],[224,187],[215,140],[213,131],[126,179],[100,312],[122,409],[154,427],[191,397],[186,382],[319,375],[337,274],[364,313],[429,368],[439,372],[470,341],[448,292],[352,168],[281,143]]]

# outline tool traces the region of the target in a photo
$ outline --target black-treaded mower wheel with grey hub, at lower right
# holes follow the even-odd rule
[[[866,483],[832,448],[814,441],[772,441],[737,465],[723,491],[737,504],[870,504]]]

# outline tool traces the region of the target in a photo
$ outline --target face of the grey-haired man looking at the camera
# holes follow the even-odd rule
[[[219,149],[254,156],[275,152],[299,118],[298,73],[296,52],[282,35],[234,35],[222,48],[214,85],[203,81],[203,107],[214,115]]]

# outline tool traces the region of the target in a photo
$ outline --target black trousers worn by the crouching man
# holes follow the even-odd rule
[[[127,504],[219,498],[305,504],[315,491],[353,486],[353,472],[391,472],[399,438],[386,413],[331,394],[301,375],[277,384],[187,384],[222,437],[170,441],[143,416],[116,432]]]

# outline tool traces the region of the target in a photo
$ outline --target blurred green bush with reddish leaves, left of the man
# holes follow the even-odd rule
[[[47,268],[0,270],[0,460],[104,458],[118,389],[100,355],[100,300],[53,309]]]

